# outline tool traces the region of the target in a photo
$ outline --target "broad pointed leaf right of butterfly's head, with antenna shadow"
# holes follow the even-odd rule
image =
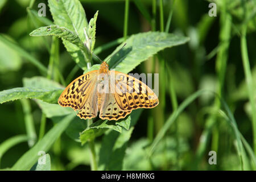
[[[178,46],[188,42],[189,38],[167,34],[165,32],[145,32],[130,36],[126,40],[126,46],[123,47],[116,55],[108,61],[109,67],[115,71],[129,73],[142,61],[147,60],[150,56],[165,48]],[[116,53],[121,47],[118,46],[115,51],[106,57]]]

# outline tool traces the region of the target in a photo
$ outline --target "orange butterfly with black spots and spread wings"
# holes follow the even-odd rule
[[[95,118],[100,111],[101,119],[117,121],[134,109],[155,107],[159,100],[142,81],[109,71],[109,65],[103,61],[100,69],[73,80],[61,93],[58,103],[77,110],[83,119]]]

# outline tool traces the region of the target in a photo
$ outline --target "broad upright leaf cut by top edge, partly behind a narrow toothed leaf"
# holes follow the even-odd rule
[[[88,27],[88,22],[80,1],[49,0],[48,2],[55,24],[68,28],[68,30],[74,32],[84,43],[86,41],[84,28]],[[63,44],[79,67],[86,70],[86,61],[89,60],[89,55],[86,55],[79,47],[67,40],[63,39]]]

